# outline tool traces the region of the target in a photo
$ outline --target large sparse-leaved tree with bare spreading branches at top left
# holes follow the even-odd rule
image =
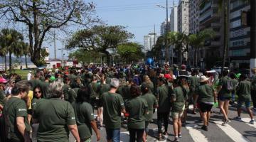
[[[50,36],[49,31],[67,31],[71,23],[87,26],[97,22],[97,18],[92,18],[94,9],[93,3],[83,0],[1,0],[0,19],[26,26],[31,61],[40,66],[42,44],[46,35]]]

